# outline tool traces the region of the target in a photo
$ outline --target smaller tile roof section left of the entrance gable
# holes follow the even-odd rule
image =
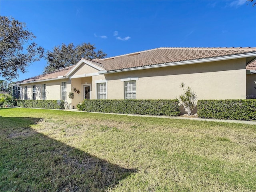
[[[40,80],[51,80],[51,79],[55,79],[55,78],[58,78],[58,76],[64,76],[67,72],[69,72],[72,68],[74,67],[73,66],[70,66],[70,67],[66,67],[66,68],[63,68],[63,69],[59,69],[59,70],[56,70],[52,73],[47,73],[47,74],[42,74],[42,75],[39,75],[39,76],[35,76],[35,77],[32,77],[32,78],[28,78],[28,79],[25,79],[25,80],[22,80],[22,81],[18,81],[16,82],[16,84],[19,84],[19,83],[29,83],[29,82],[32,82],[32,81],[40,81]]]

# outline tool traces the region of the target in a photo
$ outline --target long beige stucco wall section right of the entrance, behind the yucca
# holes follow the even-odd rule
[[[198,99],[245,99],[245,59],[170,66],[106,74],[108,99],[124,99],[121,78],[138,77],[136,99],[175,99],[180,83],[190,86]]]

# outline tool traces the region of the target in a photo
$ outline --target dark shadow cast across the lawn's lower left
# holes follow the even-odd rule
[[[42,120],[0,117],[0,191],[104,191],[136,172],[31,128]]]

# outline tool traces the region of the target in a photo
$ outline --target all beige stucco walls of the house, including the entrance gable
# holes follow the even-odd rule
[[[98,70],[84,64],[81,70],[72,75],[88,74]],[[255,75],[247,75],[245,59],[225,60],[181,66],[170,66],[154,69],[119,72],[83,78],[72,78],[40,82],[28,86],[28,98],[32,99],[32,86],[38,88],[37,99],[41,99],[42,84],[46,84],[47,99],[61,98],[61,82],[67,82],[67,102],[75,106],[84,99],[84,86],[90,86],[90,98],[96,99],[96,81],[107,80],[107,98],[124,99],[124,81],[122,78],[138,77],[136,80],[136,99],[175,99],[182,94],[180,83],[190,86],[199,99],[245,99],[246,94],[256,94],[256,89],[246,92],[246,80],[252,82]],[[256,80],[255,80],[256,81]],[[80,91],[74,92],[74,88]],[[68,98],[68,93],[74,92],[74,99]],[[253,92],[254,91],[254,92]]]

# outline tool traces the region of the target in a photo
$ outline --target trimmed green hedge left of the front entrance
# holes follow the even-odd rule
[[[42,108],[42,109],[65,109],[64,101],[57,104],[57,100],[17,100],[18,107]]]

